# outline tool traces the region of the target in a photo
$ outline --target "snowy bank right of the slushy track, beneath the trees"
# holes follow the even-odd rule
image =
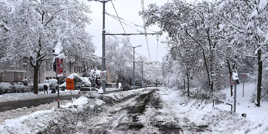
[[[230,111],[230,106],[219,104],[212,108],[212,103],[190,99],[181,95],[180,91],[162,88],[160,92],[163,101],[161,112],[170,112],[181,119],[182,126],[193,126],[211,130],[212,133],[268,133],[268,103],[261,102],[261,107],[249,103],[254,83],[245,83],[244,97],[242,84],[237,86],[236,113]],[[230,96],[230,88],[222,90]],[[226,101],[228,103],[227,97]],[[230,103],[230,102],[229,102]],[[246,113],[247,118],[241,114]]]

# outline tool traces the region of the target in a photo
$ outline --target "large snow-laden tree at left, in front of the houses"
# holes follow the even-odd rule
[[[85,32],[90,23],[90,8],[79,0],[0,1],[0,38],[3,64],[27,59],[34,70],[34,92],[45,60],[52,61],[52,50],[61,43],[68,61],[89,60],[94,46]]]

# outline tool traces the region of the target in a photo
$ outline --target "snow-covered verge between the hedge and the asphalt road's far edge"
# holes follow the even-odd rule
[[[72,91],[72,95],[78,95],[79,90]],[[70,90],[60,91],[60,96],[69,96],[71,95]],[[57,92],[52,94],[50,90],[48,90],[48,94],[44,94],[44,91],[38,92],[38,94],[34,93],[12,93],[12,94],[3,94],[0,95],[0,103],[6,102],[17,102],[17,101],[26,101],[26,100],[34,100],[34,99],[44,99],[44,98],[52,98],[57,97]]]

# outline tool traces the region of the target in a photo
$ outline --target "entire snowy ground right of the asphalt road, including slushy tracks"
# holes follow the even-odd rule
[[[175,88],[151,87],[106,95],[85,94],[74,103],[63,101],[60,109],[57,102],[52,102],[1,112],[4,118],[0,120],[0,133],[268,134],[267,103],[254,107],[247,100],[255,84],[245,84],[244,97],[239,97],[240,86],[237,113],[225,104],[213,108],[208,101],[188,98]],[[222,91],[229,95],[229,88]]]

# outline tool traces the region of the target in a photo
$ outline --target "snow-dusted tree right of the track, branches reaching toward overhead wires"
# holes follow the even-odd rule
[[[220,85],[221,72],[219,70],[222,68],[219,50],[221,46],[218,44],[219,25],[214,8],[213,3],[209,2],[194,5],[174,0],[161,7],[150,4],[149,9],[145,10],[148,26],[158,24],[164,32],[169,34],[169,40],[178,45],[187,45],[185,46],[185,50],[188,49],[187,52],[191,52],[191,49],[198,49],[198,57],[202,57],[204,66],[201,72],[205,74],[211,92],[213,88],[220,88],[215,84]],[[176,44],[170,45],[172,45],[171,48],[176,47]]]

